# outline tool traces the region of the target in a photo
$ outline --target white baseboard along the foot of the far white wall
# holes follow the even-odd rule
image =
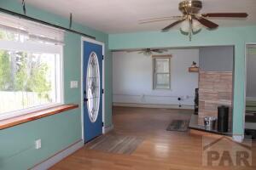
[[[194,105],[181,105],[181,107],[179,107],[179,105],[113,103],[113,106],[160,108],[160,109],[188,109],[188,110],[194,110]]]

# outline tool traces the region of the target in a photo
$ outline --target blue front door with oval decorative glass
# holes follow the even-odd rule
[[[102,45],[84,41],[84,142],[102,134]]]

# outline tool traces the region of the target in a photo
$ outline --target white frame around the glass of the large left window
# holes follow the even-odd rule
[[[26,115],[32,113],[34,111],[42,111],[45,109],[49,109],[51,107],[55,107],[58,105],[64,104],[64,82],[63,82],[63,46],[54,45],[54,44],[45,44],[41,42],[13,42],[8,40],[0,40],[0,49],[3,50],[15,50],[15,51],[26,51],[30,53],[49,53],[49,54],[60,54],[60,66],[56,67],[59,70],[60,74],[56,74],[56,93],[57,94],[57,102],[46,104],[46,105],[38,105],[32,106],[26,109],[9,111],[0,114],[0,120],[9,119],[15,116]]]

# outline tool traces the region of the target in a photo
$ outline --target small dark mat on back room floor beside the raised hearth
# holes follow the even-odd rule
[[[189,120],[173,120],[169,126],[166,128],[167,131],[178,131],[186,132],[188,131]]]

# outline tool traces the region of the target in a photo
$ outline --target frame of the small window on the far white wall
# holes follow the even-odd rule
[[[169,59],[169,88],[156,88],[156,68],[155,68],[155,59]],[[154,90],[171,90],[171,59],[172,55],[152,55],[153,63],[153,89]],[[167,74],[167,73],[165,73]]]

